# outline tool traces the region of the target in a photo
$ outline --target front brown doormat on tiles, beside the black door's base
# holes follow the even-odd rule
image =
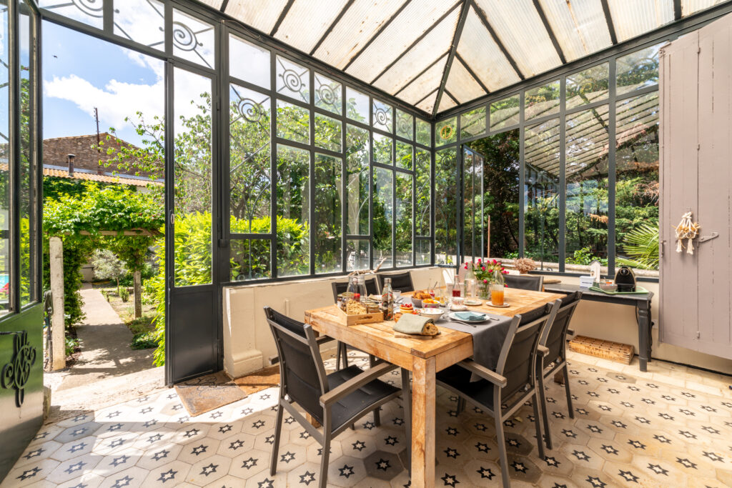
[[[178,383],[176,391],[192,417],[247,397],[223,371]]]

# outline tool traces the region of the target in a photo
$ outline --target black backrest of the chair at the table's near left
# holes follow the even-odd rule
[[[289,395],[321,420],[320,397],[328,391],[328,381],[313,329],[270,307],[264,307],[264,313],[280,355],[280,395]]]

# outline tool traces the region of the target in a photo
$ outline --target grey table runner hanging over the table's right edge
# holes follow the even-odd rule
[[[476,323],[475,327],[468,326],[464,323],[453,322],[445,314],[444,318],[438,320],[437,325],[447,327],[454,331],[467,332],[473,336],[473,360],[488,369],[496,369],[498,364],[498,356],[501,355],[506,334],[508,333],[511,317],[504,315],[486,314],[488,317],[497,318],[498,320],[487,320],[486,322]],[[477,380],[473,375],[471,381]]]

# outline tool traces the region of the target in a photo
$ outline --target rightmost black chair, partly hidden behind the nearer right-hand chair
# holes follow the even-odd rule
[[[556,312],[556,317],[549,327],[544,329],[539,345],[546,348],[542,361],[537,361],[537,379],[539,381],[539,397],[542,402],[542,413],[544,414],[545,439],[547,447],[551,448],[551,433],[549,429],[549,416],[547,414],[547,402],[544,392],[545,378],[552,377],[561,369],[564,373],[564,390],[567,393],[567,408],[569,418],[575,418],[572,410],[572,394],[569,392],[569,375],[567,374],[567,334],[574,335],[575,332],[569,329],[569,322],[575,313],[577,305],[582,298],[581,291],[570,293],[561,299],[561,305]]]

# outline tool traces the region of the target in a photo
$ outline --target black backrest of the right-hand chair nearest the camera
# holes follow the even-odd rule
[[[514,316],[496,366],[496,372],[507,379],[501,397],[509,398],[525,386],[534,385],[539,337],[558,309],[559,300]]]

